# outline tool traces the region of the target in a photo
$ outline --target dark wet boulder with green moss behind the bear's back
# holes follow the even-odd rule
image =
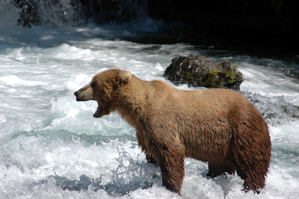
[[[189,55],[176,57],[171,62],[164,77],[176,85],[239,89],[244,81],[243,74],[229,61],[213,63],[201,55]]]

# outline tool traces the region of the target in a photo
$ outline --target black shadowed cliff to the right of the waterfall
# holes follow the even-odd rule
[[[256,45],[297,49],[297,0],[151,0],[149,16],[180,20],[188,32],[216,45]]]

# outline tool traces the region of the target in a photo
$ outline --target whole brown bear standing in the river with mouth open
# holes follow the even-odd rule
[[[271,158],[268,126],[234,90],[180,90],[108,69],[74,95],[77,101],[97,101],[95,118],[117,112],[132,125],[148,162],[159,164],[162,184],[173,192],[181,192],[185,157],[207,162],[207,176],[237,171],[245,191],[259,193],[265,186]]]

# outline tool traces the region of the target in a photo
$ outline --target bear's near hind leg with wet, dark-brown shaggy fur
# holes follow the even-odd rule
[[[261,121],[263,121],[261,119]],[[248,130],[247,137],[237,137],[233,148],[237,174],[244,180],[245,191],[257,194],[265,186],[271,159],[271,141],[267,124],[265,130]],[[252,128],[254,129],[254,127]],[[240,132],[242,132],[240,130]],[[243,135],[244,136],[244,132]]]

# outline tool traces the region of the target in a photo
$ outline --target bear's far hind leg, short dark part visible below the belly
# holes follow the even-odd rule
[[[209,172],[207,176],[209,177],[216,177],[225,173],[234,175],[236,173],[236,168],[234,167],[233,164],[215,164],[215,163],[210,163],[208,164]]]

